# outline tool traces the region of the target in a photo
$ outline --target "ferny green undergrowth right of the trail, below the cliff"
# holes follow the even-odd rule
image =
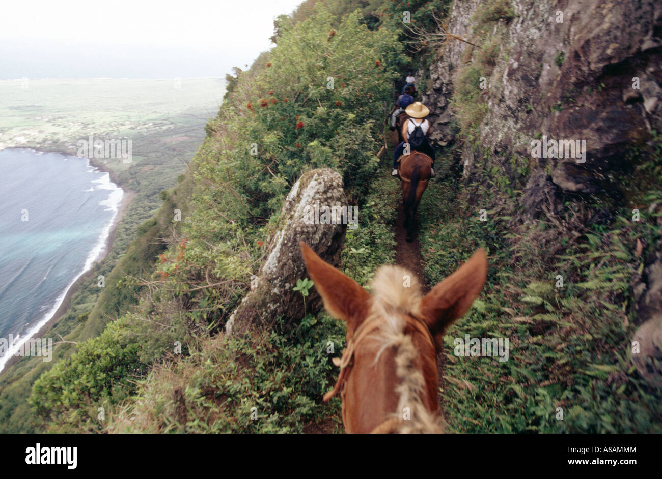
[[[451,155],[440,171],[449,170]],[[641,156],[652,160],[639,169],[655,171],[659,182],[659,143]],[[659,393],[639,377],[629,355],[636,318],[629,281],[646,256],[636,256],[633,245],[637,239],[654,245],[659,219],[632,222],[632,203],[614,207],[613,223],[586,229],[592,212],[568,198],[560,219],[568,229],[560,235],[553,218],[516,225],[518,204],[498,194],[502,174],[483,169],[469,188],[451,175],[440,178],[421,207],[430,283],[452,273],[475,248],[489,253],[481,297],[444,338],[448,383],[442,397],[451,431],[659,433]],[[623,187],[647,188],[641,182]],[[487,209],[485,222],[480,208]],[[508,361],[455,357],[453,339],[465,334],[510,338]],[[562,421],[557,408],[563,408]]]

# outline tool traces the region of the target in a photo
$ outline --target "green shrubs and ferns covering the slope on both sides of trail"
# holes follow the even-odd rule
[[[150,203],[99,301],[81,289],[54,328],[76,338],[75,348],[61,345],[50,370],[21,361],[3,379],[4,430],[341,431],[340,399],[321,402],[337,373],[331,358],[344,348],[341,322],[309,313],[296,326],[279,318],[273,330],[243,338],[226,336],[222,326],[264,260],[285,194],[310,168],[336,168],[350,203],[361,207],[341,269],[368,285],[378,266],[393,262],[401,196],[374,156],[383,102],[404,67],[436,61],[426,49],[402,55],[411,35],[402,11],[429,30],[436,28],[430,12],[443,17],[449,3],[308,0],[277,18],[277,46],[228,76],[225,101],[189,168]],[[444,415],[453,432],[661,432],[659,392],[636,373],[628,350],[630,278],[661,221],[643,215],[635,223],[631,211],[662,201],[662,143],[633,151],[632,169],[616,183],[627,200],[620,206],[607,195],[568,196],[561,215],[519,221],[530,161],[479,147],[487,114],[479,84],[485,77],[490,85],[498,59],[507,57],[503,27],[514,15],[510,1],[490,0],[472,18],[476,46],[457,66],[451,99],[461,141],[438,157],[439,176],[420,207],[428,283],[478,247],[489,254],[483,293],[444,338]],[[475,152],[467,178],[457,161],[465,142]],[[175,209],[181,222],[173,221]],[[601,209],[612,217],[589,221]],[[647,245],[639,256],[638,239]],[[309,287],[301,278],[296,288],[305,294]],[[453,339],[465,334],[509,338],[509,360],[456,357]],[[29,404],[21,402],[28,395]]]

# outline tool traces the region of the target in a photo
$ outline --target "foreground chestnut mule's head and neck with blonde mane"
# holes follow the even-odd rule
[[[348,433],[442,432],[436,357],[444,330],[467,312],[487,276],[477,250],[423,296],[416,276],[382,266],[369,295],[354,279],[324,262],[304,242],[301,252],[324,307],[347,323],[347,349],[336,386]]]

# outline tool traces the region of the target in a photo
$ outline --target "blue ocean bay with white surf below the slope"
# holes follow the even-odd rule
[[[5,149],[0,172],[0,340],[13,338],[1,371],[103,254],[124,192],[60,153]]]

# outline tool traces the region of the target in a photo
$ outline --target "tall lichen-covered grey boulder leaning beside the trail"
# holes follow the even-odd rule
[[[326,262],[340,264],[340,250],[345,239],[346,224],[332,212],[330,221],[317,222],[310,212],[315,207],[347,205],[342,176],[330,169],[308,171],[297,180],[287,195],[278,229],[269,241],[267,260],[252,289],[234,310],[226,323],[226,332],[242,334],[253,326],[271,326],[279,319],[295,324],[305,311],[318,311],[322,299],[310,288],[304,305],[299,291],[293,291],[297,279],[307,276],[299,241],[304,241]],[[321,215],[320,215],[321,216]]]

